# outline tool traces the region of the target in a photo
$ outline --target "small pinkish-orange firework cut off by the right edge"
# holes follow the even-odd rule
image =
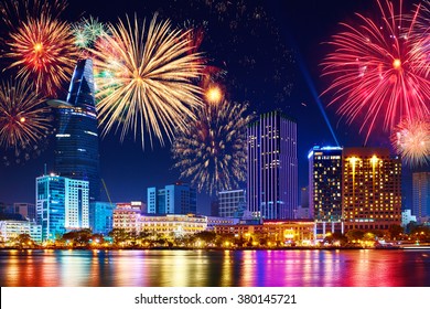
[[[430,120],[404,119],[391,135],[391,143],[406,163],[430,162]]]

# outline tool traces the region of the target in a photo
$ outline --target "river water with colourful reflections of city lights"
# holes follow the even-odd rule
[[[429,287],[430,251],[0,251],[2,287]]]

